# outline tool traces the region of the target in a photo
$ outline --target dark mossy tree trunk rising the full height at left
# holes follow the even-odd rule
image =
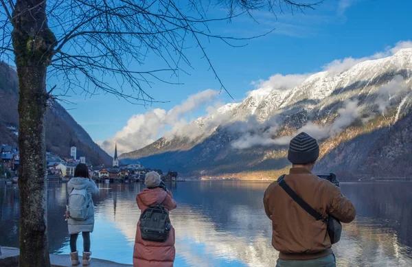
[[[49,267],[45,113],[47,66],[56,43],[46,1],[17,0],[12,42],[19,76],[20,267]]]

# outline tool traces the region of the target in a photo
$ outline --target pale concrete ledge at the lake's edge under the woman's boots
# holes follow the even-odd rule
[[[18,267],[19,266],[19,248],[9,248],[7,246],[1,247],[0,256],[0,266],[1,267]],[[82,257],[79,257],[80,265],[82,266]],[[50,255],[50,262],[52,262],[52,267],[71,267],[70,256],[69,255]],[[106,261],[104,259],[94,259],[93,255],[91,257],[91,267],[133,267],[130,264],[117,264],[116,262]]]

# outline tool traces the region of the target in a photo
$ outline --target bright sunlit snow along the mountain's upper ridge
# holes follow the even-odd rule
[[[350,86],[365,84],[364,89],[366,89],[374,79],[385,73],[396,73],[403,69],[412,73],[412,48],[400,49],[396,54],[385,58],[358,62],[341,73],[328,69],[313,73],[293,88],[260,87],[249,92],[242,102],[225,104],[218,108],[216,113],[207,117],[199,117],[195,122],[200,128],[203,128],[207,121],[214,121],[219,116],[227,118],[221,119],[221,123],[225,124],[233,121],[246,121],[251,115],[255,115],[258,121],[263,122],[273,115],[281,113],[285,108],[300,102],[308,102],[302,108],[310,111],[316,106],[310,104],[310,101],[313,103],[325,102],[320,106],[321,110],[328,102],[332,101],[332,99],[328,100],[332,93],[336,95],[332,97],[335,99]],[[373,89],[369,88],[367,93]]]

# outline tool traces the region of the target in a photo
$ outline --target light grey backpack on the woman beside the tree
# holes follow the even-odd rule
[[[70,212],[70,218],[73,220],[86,220],[87,211],[89,210],[88,208],[87,190],[73,188],[69,196],[69,205],[67,205],[67,210]]]

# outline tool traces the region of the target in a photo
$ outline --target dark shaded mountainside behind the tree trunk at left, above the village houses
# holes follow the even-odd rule
[[[0,142],[18,145],[18,137],[8,126],[19,126],[19,82],[17,73],[0,63]],[[57,102],[47,108],[46,149],[61,156],[70,155],[70,146],[84,152],[92,164],[111,164],[111,156],[102,150],[69,113]]]

